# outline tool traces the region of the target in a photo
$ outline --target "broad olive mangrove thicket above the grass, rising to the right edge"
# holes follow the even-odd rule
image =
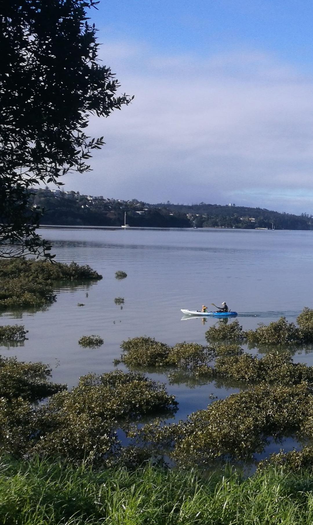
[[[251,459],[267,445],[267,436],[281,439],[299,432],[313,402],[311,388],[259,385],[214,401],[186,422],[145,425],[135,436],[154,443],[182,466],[210,464],[214,459]]]

